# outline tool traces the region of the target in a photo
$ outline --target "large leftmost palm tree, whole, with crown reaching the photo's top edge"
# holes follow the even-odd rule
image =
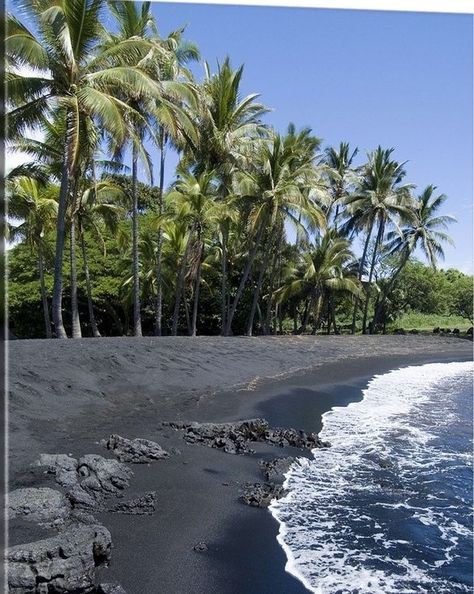
[[[150,51],[146,40],[127,39],[99,51],[104,0],[26,0],[23,4],[38,36],[15,16],[8,16],[5,44],[12,103],[8,137],[18,138],[27,128],[42,129],[45,117],[58,104],[65,110],[53,321],[56,336],[67,338],[61,312],[62,262],[66,207],[77,177],[82,141],[81,116],[93,119],[120,144],[127,134],[134,134],[129,122],[141,119],[123,96],[159,95],[161,89],[136,65]],[[19,66],[27,66],[38,75],[19,74]]]

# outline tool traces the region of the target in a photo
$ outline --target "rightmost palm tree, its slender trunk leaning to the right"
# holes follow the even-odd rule
[[[444,258],[442,243],[454,245],[452,238],[445,230],[456,219],[451,215],[437,214],[447,196],[445,194],[435,196],[435,192],[436,186],[427,186],[418,196],[418,199],[414,201],[401,229],[391,231],[387,235],[389,242],[387,252],[389,255],[398,255],[399,262],[378,299],[373,320],[374,327],[380,321],[385,300],[417,247],[421,248],[428,263],[435,269],[437,259]]]

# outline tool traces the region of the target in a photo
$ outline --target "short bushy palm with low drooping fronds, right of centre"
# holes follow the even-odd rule
[[[328,293],[343,291],[352,295],[360,294],[360,282],[352,273],[351,262],[354,255],[350,242],[334,229],[316,240],[314,246],[300,256],[300,262],[291,273],[287,271],[287,282],[278,289],[279,303],[298,296],[305,300],[305,313],[301,332],[306,331],[310,316],[313,315],[313,333],[319,327],[323,299]]]

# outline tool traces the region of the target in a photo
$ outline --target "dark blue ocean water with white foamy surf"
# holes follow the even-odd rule
[[[473,364],[375,376],[323,416],[270,511],[286,570],[317,594],[473,592]]]

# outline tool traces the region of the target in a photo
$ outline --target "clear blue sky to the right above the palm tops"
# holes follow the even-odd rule
[[[472,273],[472,15],[163,2],[153,13],[162,34],[187,24],[212,67],[245,64],[243,92],[261,93],[278,130],[310,126],[360,160],[394,147],[407,181],[437,185],[459,221],[443,267]]]

